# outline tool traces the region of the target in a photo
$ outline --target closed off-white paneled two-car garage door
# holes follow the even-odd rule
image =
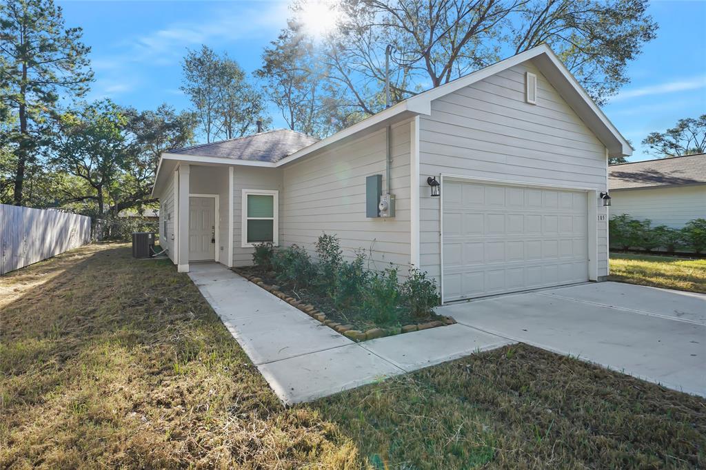
[[[587,194],[444,179],[443,300],[588,280]]]

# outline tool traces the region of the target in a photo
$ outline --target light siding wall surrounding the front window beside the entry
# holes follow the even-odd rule
[[[227,171],[225,171],[227,175]],[[280,246],[285,245],[282,231],[282,170],[279,168],[235,167],[233,174],[233,265],[253,264],[253,248],[242,246],[242,204],[244,189],[280,191]]]

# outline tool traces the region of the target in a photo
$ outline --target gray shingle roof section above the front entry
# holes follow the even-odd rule
[[[225,157],[235,160],[254,160],[258,162],[278,162],[287,155],[318,142],[310,135],[289,129],[246,135],[220,142],[194,145],[172,150],[180,155],[198,155],[201,157]]]

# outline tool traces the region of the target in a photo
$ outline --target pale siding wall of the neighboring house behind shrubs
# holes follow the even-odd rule
[[[652,225],[681,229],[693,219],[706,219],[706,186],[668,186],[611,192],[611,217],[627,214]]]

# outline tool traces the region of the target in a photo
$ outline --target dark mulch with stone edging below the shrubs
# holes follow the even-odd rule
[[[410,313],[400,313],[397,325],[378,325],[365,312],[340,311],[333,301],[325,295],[311,289],[294,289],[292,286],[277,282],[275,272],[265,272],[256,266],[234,267],[233,270],[246,279],[255,282],[281,299],[292,303],[312,318],[321,321],[342,335],[357,340],[375,339],[383,336],[399,335],[417,330],[453,325],[453,318],[430,313],[424,317]],[[281,294],[281,295],[280,295]],[[323,316],[322,316],[323,315]]]

